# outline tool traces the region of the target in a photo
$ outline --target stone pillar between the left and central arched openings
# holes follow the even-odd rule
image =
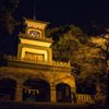
[[[15,101],[22,101],[22,97],[23,97],[23,85],[17,84],[15,93]]]

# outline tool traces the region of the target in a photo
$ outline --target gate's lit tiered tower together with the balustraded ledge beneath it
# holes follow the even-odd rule
[[[50,48],[52,38],[45,36],[45,28],[49,22],[24,19],[24,24],[25,29],[19,35],[17,57],[4,56],[7,65],[71,73],[73,66],[70,62],[52,60],[52,49]]]

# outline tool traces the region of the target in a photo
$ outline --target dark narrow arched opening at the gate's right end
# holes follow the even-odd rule
[[[71,87],[68,84],[57,85],[57,102],[71,102]]]

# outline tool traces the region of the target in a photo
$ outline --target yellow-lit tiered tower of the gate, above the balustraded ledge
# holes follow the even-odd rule
[[[51,62],[51,38],[46,38],[45,28],[49,22],[24,19],[25,33],[19,35],[17,57],[22,60],[35,62]]]

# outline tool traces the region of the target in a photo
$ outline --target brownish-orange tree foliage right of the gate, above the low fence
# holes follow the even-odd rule
[[[90,40],[90,39],[89,39]],[[80,65],[80,74],[75,71],[77,86],[84,88],[84,93],[95,94],[99,83],[101,92],[106,89],[106,61],[105,52],[97,45],[84,45],[76,52],[75,62]],[[84,83],[84,85],[83,85]],[[87,83],[87,84],[86,84]],[[104,87],[104,88],[102,88]]]

